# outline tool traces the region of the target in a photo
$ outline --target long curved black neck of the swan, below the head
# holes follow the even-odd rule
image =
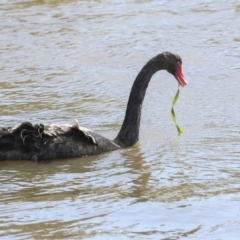
[[[137,75],[128,99],[127,109],[122,127],[114,139],[121,147],[135,144],[139,139],[141,110],[148,84],[158,70],[166,69],[164,55],[157,55],[142,68]]]

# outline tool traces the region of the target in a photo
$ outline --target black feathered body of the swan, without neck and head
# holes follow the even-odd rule
[[[95,155],[119,148],[101,135],[73,124],[21,123],[0,128],[0,160],[47,160]]]

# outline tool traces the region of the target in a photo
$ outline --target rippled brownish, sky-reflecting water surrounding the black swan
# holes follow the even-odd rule
[[[143,64],[180,54],[189,85],[157,73],[134,147],[0,163],[0,239],[238,239],[236,1],[4,0],[0,125],[79,123],[116,136]]]

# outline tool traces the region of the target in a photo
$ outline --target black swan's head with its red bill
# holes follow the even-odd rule
[[[167,71],[176,78],[176,80],[182,87],[186,86],[187,81],[183,76],[181,57],[178,54],[172,52],[165,52],[163,53],[163,55],[164,58],[167,60]]]

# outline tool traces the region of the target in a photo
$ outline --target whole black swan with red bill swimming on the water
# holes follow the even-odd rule
[[[187,85],[182,60],[171,52],[150,59],[137,75],[129,96],[122,127],[114,140],[78,125],[36,124],[23,122],[0,128],[0,160],[49,160],[96,155],[134,145],[139,138],[141,109],[148,83],[159,70],[171,73],[183,87]]]

